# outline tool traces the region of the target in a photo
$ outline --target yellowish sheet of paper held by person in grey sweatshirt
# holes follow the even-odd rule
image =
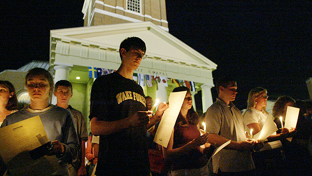
[[[51,175],[60,170],[55,156],[33,160],[28,152],[49,141],[39,116],[0,128],[0,140],[0,154],[13,175]]]

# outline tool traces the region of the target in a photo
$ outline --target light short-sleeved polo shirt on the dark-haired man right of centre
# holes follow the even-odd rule
[[[227,105],[217,99],[207,110],[207,132],[218,134],[226,139],[241,142],[246,140],[243,116],[231,102]],[[240,172],[255,168],[251,152],[222,149],[212,157],[213,172]]]

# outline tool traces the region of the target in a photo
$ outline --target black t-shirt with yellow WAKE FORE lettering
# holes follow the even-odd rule
[[[92,86],[90,120],[117,121],[147,111],[142,87],[114,72]],[[147,175],[150,172],[146,126],[100,136],[96,175]]]

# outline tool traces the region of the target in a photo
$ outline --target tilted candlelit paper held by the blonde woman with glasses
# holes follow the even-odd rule
[[[272,135],[277,130],[278,130],[278,128],[276,127],[276,125],[273,121],[273,118],[272,118],[272,114],[270,113],[269,116],[267,117],[267,119],[265,120],[261,131],[259,133],[257,133],[257,134],[259,134],[259,137],[256,134],[254,139],[259,139],[261,141],[264,141],[267,137]]]

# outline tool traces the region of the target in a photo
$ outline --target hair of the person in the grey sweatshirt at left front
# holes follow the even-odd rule
[[[50,84],[50,89],[51,90],[53,90],[53,88],[54,88],[54,82],[53,82],[53,77],[52,77],[52,75],[51,75],[51,73],[48,71],[48,70],[46,70],[46,69],[44,69],[44,68],[39,68],[39,67],[36,67],[36,68],[33,68],[33,69],[31,69],[31,70],[29,70],[28,72],[27,72],[27,74],[26,74],[26,76],[25,76],[25,86],[27,86],[27,80],[29,79],[29,78],[33,78],[33,77],[35,77],[35,76],[44,76],[47,80],[48,80],[48,82],[49,82],[49,84]],[[50,97],[50,99],[52,98],[52,91],[49,93],[49,97]],[[51,101],[51,100],[50,100]]]

